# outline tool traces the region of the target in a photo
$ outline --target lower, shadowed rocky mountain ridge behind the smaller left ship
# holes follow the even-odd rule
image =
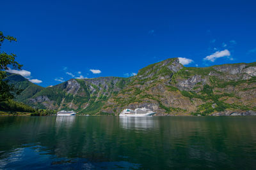
[[[95,114],[128,81],[127,78],[115,77],[71,79],[54,87],[47,87],[23,102],[36,108],[72,109],[79,113]]]

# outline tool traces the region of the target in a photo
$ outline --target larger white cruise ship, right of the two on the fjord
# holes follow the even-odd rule
[[[120,113],[119,117],[150,117],[154,114],[156,112],[146,108],[137,108],[136,110],[125,109]]]

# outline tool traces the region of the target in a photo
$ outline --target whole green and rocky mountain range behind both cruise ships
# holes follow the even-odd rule
[[[81,114],[118,115],[124,108],[147,107],[157,115],[256,115],[256,62],[184,67],[173,58],[130,78],[71,79],[47,88],[28,84],[18,101]]]

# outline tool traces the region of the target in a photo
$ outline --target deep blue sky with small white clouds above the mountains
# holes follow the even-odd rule
[[[18,41],[1,49],[43,87],[132,76],[172,57],[193,67],[255,62],[255,9],[255,1],[2,0],[0,31]]]

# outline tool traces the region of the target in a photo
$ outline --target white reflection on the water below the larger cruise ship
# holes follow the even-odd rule
[[[158,127],[158,120],[154,117],[120,117],[120,126],[125,129],[150,129]]]

